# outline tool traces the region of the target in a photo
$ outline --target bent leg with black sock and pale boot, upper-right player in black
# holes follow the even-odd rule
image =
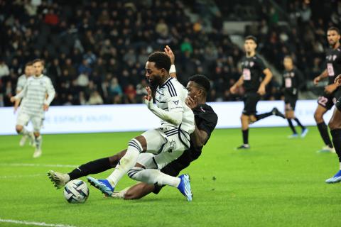
[[[320,152],[332,152],[334,151],[332,146],[332,141],[330,140],[329,133],[328,133],[328,126],[325,124],[323,120],[323,115],[331,109],[333,103],[330,99],[326,98],[325,96],[320,96],[318,98],[318,108],[315,110],[314,118],[318,126],[318,131],[320,132],[321,138],[325,143],[325,147]]]

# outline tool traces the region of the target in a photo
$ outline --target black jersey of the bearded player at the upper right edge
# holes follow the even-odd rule
[[[328,71],[328,84],[334,84],[335,78],[341,74],[341,48],[329,49],[325,56]]]

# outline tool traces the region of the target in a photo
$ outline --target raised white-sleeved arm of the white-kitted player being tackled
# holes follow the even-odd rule
[[[179,126],[180,123],[183,120],[183,112],[182,111],[172,111],[171,108],[169,108],[169,103],[171,103],[173,100],[168,102],[168,109],[169,111],[164,111],[163,109],[158,108],[158,106],[155,106],[153,104],[153,98],[151,96],[151,88],[146,87],[146,91],[148,92],[148,95],[144,96],[144,101],[148,106],[148,109],[150,109],[153,114],[158,116],[158,118],[161,118],[163,121],[167,121],[168,123],[171,123],[175,126]],[[173,97],[176,99],[176,96]],[[177,100],[178,106],[180,106],[180,101]],[[181,108],[182,109],[182,108]]]

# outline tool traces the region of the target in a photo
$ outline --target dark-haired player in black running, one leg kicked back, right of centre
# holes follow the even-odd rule
[[[272,78],[272,73],[264,65],[263,60],[256,55],[257,42],[254,36],[245,38],[244,49],[246,56],[242,58],[242,76],[230,88],[230,92],[235,94],[237,88],[244,85],[244,110],[241,116],[243,144],[237,149],[249,149],[249,124],[259,121],[271,115],[281,116],[285,118],[278,109],[265,114],[256,114],[256,105],[261,96],[266,93],[266,84],[269,84]],[[265,75],[265,77],[264,77]]]

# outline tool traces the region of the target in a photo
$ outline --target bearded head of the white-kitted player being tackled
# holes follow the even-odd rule
[[[165,77],[169,77],[171,58],[164,52],[153,52],[146,62],[146,78],[151,86],[161,85]]]

